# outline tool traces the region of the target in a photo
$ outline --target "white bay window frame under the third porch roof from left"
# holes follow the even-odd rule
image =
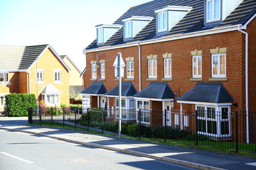
[[[138,102],[142,102],[142,108],[138,108]],[[144,108],[144,103],[145,102],[147,102],[147,103],[149,103],[149,106],[148,106],[148,108]],[[150,125],[150,102],[149,101],[143,101],[143,100],[136,100],[136,114],[137,114],[137,116],[136,116],[136,121],[137,121],[137,123],[139,123],[139,109],[142,109],[142,119],[141,119],[141,123],[143,123],[143,124],[147,124],[147,125]],[[147,116],[148,115],[148,116]],[[146,120],[146,119],[148,119],[148,120]]]

